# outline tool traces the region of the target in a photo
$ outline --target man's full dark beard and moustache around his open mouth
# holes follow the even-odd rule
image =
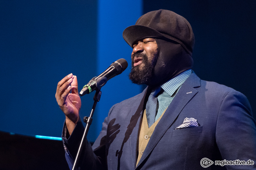
[[[129,74],[129,79],[133,83],[138,85],[147,84],[147,82],[149,82],[150,79],[153,77],[155,64],[158,58],[158,53],[155,54],[154,52],[152,52],[150,55],[153,57],[152,61],[148,61],[148,56],[146,54],[136,53],[132,55],[132,68]],[[135,57],[142,58],[142,63],[144,63],[144,66],[141,68],[141,70],[139,69],[140,65],[136,67],[133,66],[134,64],[133,59]]]

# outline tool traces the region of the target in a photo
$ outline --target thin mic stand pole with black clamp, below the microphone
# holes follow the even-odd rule
[[[94,113],[94,110],[95,110],[97,102],[100,101],[100,97],[101,97],[101,91],[97,90],[95,95],[94,95],[94,97],[93,97],[94,103],[93,103],[93,106],[92,106],[92,112],[90,114],[90,117],[84,117],[83,118],[83,121],[86,123],[86,127],[85,127],[85,130],[84,130],[84,133],[83,133],[83,137],[82,137],[80,146],[79,146],[77,154],[76,154],[76,159],[75,159],[75,162],[74,162],[72,170],[76,170],[76,166],[77,166],[78,161],[80,159],[80,155],[81,155],[81,152],[82,152],[82,149],[83,149],[83,145],[84,145],[84,142],[85,142],[85,139],[86,139],[89,127],[92,124],[92,115]]]

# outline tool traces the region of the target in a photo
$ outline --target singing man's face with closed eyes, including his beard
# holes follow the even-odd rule
[[[154,38],[145,38],[133,45],[132,69],[129,78],[133,83],[145,84],[153,76],[158,58],[158,46]]]

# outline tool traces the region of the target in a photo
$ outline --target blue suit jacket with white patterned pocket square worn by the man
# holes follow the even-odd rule
[[[155,127],[136,167],[138,136],[147,88],[112,106],[102,131],[91,147],[83,148],[81,169],[256,169],[256,127],[247,98],[238,91],[215,82],[203,81],[192,73]],[[175,130],[185,118],[195,118],[198,127]],[[78,122],[63,142],[72,168],[83,134]],[[200,161],[252,160],[254,165],[211,165]]]

